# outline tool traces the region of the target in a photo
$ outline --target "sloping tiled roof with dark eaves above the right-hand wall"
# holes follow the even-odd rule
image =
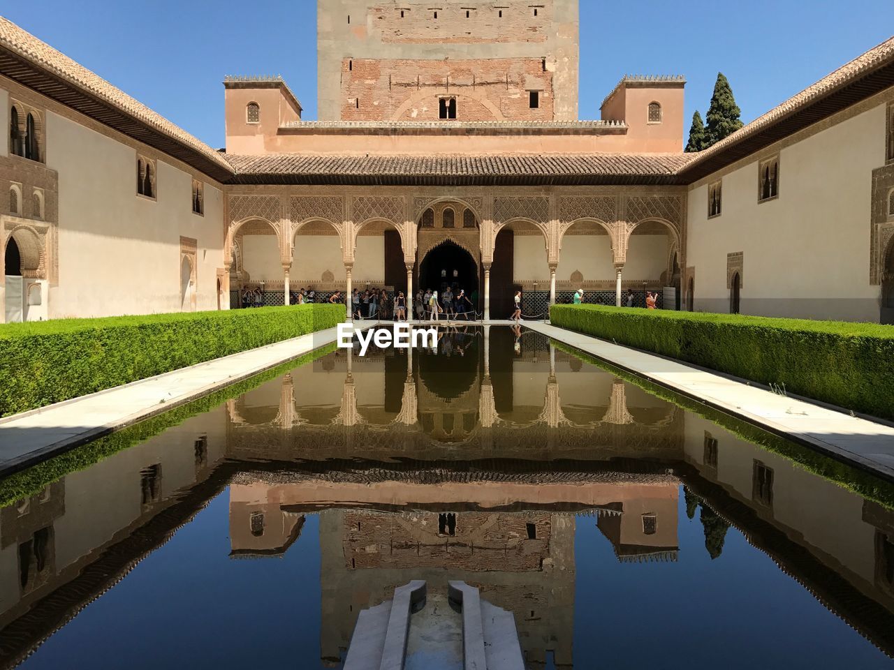
[[[728,138],[699,152],[682,172],[689,181],[698,179],[890,86],[894,86],[894,38],[857,56]],[[693,172],[696,174],[690,177]]]

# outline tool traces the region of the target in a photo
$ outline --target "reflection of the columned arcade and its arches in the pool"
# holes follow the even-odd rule
[[[678,407],[595,371],[527,332],[442,329],[437,348],[339,351],[233,400],[240,458],[667,457]],[[308,383],[303,383],[306,377]],[[309,380],[312,379],[312,383]]]

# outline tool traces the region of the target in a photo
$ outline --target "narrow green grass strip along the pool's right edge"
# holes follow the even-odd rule
[[[824,456],[809,447],[805,447],[772,432],[763,431],[757,426],[737,419],[734,416],[724,414],[720,410],[704,405],[687,396],[675,393],[670,389],[648,381],[637,375],[621,370],[614,365],[590,356],[576,348],[569,347],[562,342],[552,339],[552,346],[576,356],[586,363],[593,364],[624,381],[635,384],[645,392],[658,398],[667,400],[687,412],[699,415],[708,421],[717,424],[722,429],[729,431],[742,440],[751,442],[760,448],[771,451],[789,460],[792,464],[825,480],[834,482],[838,486],[852,491],[863,498],[873,500],[884,507],[894,510],[894,484],[868,473],[865,470],[842,463],[829,456]]]

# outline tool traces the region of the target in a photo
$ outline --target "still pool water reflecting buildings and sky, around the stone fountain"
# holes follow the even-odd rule
[[[0,667],[340,667],[413,579],[530,668],[891,666],[894,510],[534,332],[247,386],[0,510]]]

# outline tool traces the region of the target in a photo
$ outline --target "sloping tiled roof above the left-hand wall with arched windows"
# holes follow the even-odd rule
[[[75,63],[65,54],[56,51],[52,46],[42,42],[4,17],[0,17],[0,51],[15,56],[14,61],[8,59],[0,61],[0,72],[3,74],[11,76],[13,79],[21,79],[26,86],[32,86],[27,78],[39,75],[34,72],[21,71],[21,63],[24,62],[31,69],[41,71],[40,75],[49,74],[56,80],[62,80],[72,88],[78,89],[80,93],[87,94],[92,98],[93,105],[98,103],[101,106],[114,108],[114,111],[123,113],[131,117],[131,120],[137,121],[139,126],[146,127],[169,141],[173,140],[174,143],[186,149],[187,153],[192,152],[197,157],[200,156],[203,160],[198,161],[199,164],[210,163],[211,166],[218,169],[217,172],[230,172],[229,164],[213,148],[208,147],[207,144],[194,138],[161,114],[153,112],[146,105],[128,96],[121,89],[115,88],[96,73],[89,71],[80,63]],[[32,88],[34,87],[32,86]],[[38,90],[40,89],[38,88]],[[40,90],[40,92],[50,97],[57,97],[48,90]],[[63,96],[58,96],[57,99],[64,104],[69,104]],[[77,109],[77,107],[75,108]],[[92,116],[93,114],[88,113],[88,115]],[[145,137],[138,137],[138,139],[147,141]],[[149,142],[149,144],[152,143]],[[178,155],[177,157],[185,160],[189,156]]]

